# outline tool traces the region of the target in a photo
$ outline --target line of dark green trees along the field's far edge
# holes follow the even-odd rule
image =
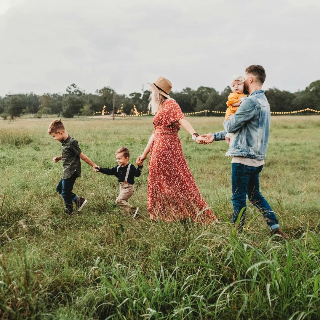
[[[214,88],[201,86],[196,90],[185,88],[181,91],[171,92],[183,112],[196,112],[202,110],[225,111],[226,101],[231,92],[230,87],[218,92]],[[271,88],[265,91],[270,103],[271,111],[296,111],[304,108],[320,109],[320,80],[312,82],[305,90],[298,92],[281,91]],[[118,94],[110,87],[96,90],[94,94],[86,93],[76,84],[67,87],[63,94],[35,93],[14,94],[0,97],[0,115],[6,119],[20,117],[23,114],[34,114],[41,117],[44,114],[56,114],[66,118],[77,115],[90,116],[101,112],[112,113],[115,96],[116,112],[134,114],[146,112],[150,92],[132,92],[129,96]],[[216,115],[216,114],[215,114]],[[223,114],[221,114],[223,116]]]

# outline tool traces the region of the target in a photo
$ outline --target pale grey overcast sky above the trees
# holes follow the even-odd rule
[[[0,0],[0,96],[141,92],[159,76],[173,90],[223,90],[251,64],[264,89],[320,79],[319,0]]]

